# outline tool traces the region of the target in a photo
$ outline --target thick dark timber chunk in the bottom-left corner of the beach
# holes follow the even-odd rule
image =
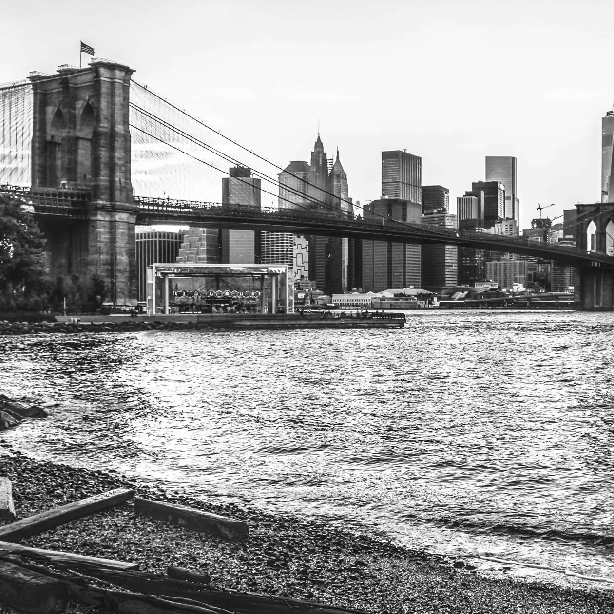
[[[31,614],[60,614],[68,591],[60,580],[0,561],[0,604]]]

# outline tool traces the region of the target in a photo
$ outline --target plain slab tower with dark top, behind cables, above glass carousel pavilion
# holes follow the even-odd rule
[[[260,179],[251,170],[235,166],[222,179],[222,204],[260,209]],[[260,257],[260,233],[253,230],[222,228],[222,262],[253,265]]]

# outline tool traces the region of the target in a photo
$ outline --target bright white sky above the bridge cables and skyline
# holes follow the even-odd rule
[[[379,197],[386,149],[421,156],[453,209],[486,155],[516,156],[522,227],[600,199],[611,1],[21,0],[1,20],[0,82],[78,66],[82,40],[281,166],[319,120],[355,201]]]

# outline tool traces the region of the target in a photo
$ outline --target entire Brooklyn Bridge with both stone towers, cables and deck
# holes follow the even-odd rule
[[[281,167],[132,75],[128,66],[95,58],[86,68],[61,66],[56,74],[31,73],[0,87],[0,192],[28,203],[47,237],[56,276],[98,274],[136,300],[136,225],[189,225],[530,255],[576,268],[579,308],[614,308],[614,203],[576,205],[577,247],[366,216],[325,198],[306,206],[301,190],[286,188],[281,196]],[[194,200],[166,196],[207,183],[217,187],[227,171],[222,161],[252,168],[263,193],[279,205],[217,203],[200,200],[199,193],[188,195]]]

